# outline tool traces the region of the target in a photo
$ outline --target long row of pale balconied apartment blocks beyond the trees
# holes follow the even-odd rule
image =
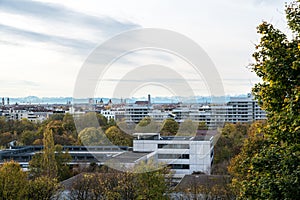
[[[158,122],[163,122],[168,117],[174,118],[179,123],[190,119],[195,122],[205,122],[213,128],[222,126],[224,122],[251,123],[267,118],[266,112],[261,110],[257,100],[254,100],[250,94],[247,97],[232,97],[226,104],[187,104],[172,111],[154,110],[152,105],[147,103],[130,104],[125,107],[124,117],[127,122],[138,123],[147,116]]]

